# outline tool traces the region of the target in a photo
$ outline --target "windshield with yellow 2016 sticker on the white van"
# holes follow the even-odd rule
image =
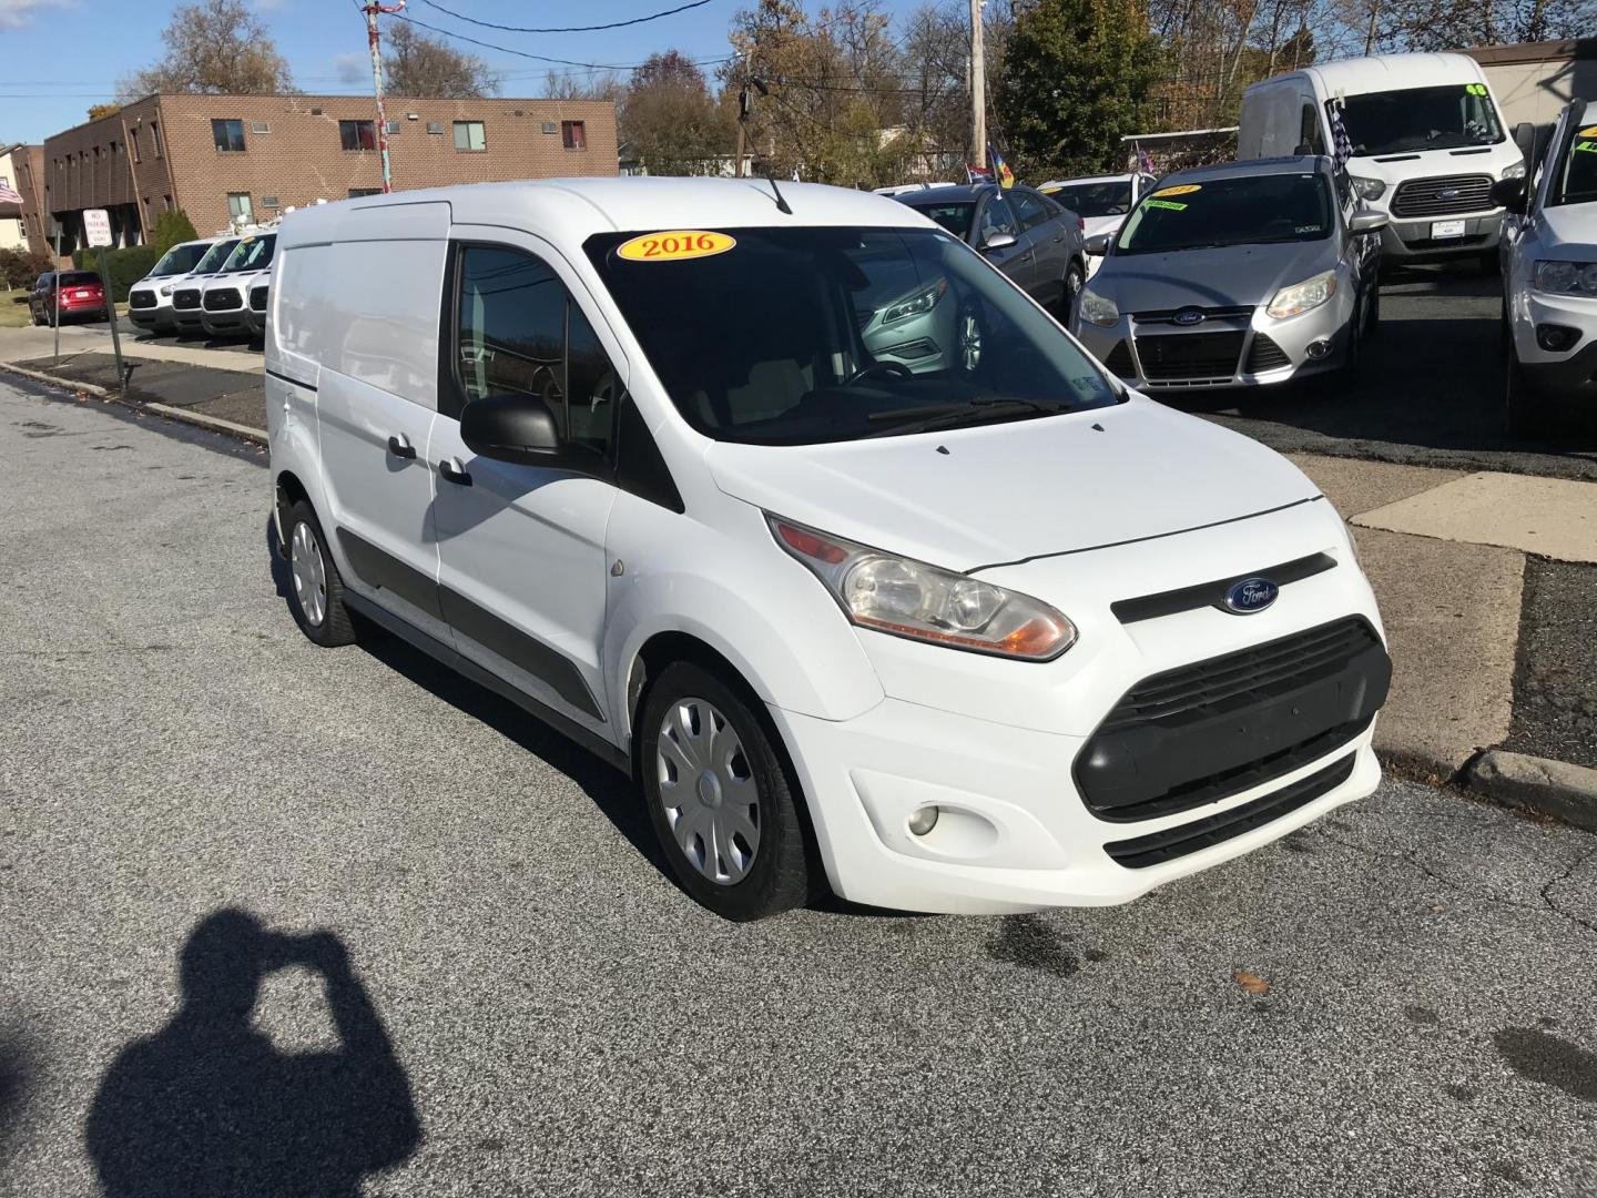
[[[585,246],[672,403],[706,436],[853,441],[1121,399],[1046,313],[941,230],[719,236],[731,244],[698,256],[642,256],[652,240],[676,244],[669,233],[600,233]]]

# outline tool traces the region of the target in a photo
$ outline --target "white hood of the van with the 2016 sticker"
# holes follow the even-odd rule
[[[739,500],[960,572],[1319,495],[1257,441],[1140,395],[1116,407],[838,444],[717,441],[706,463]]]

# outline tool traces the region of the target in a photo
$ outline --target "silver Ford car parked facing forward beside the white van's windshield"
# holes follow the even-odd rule
[[[1179,171],[1089,241],[1105,257],[1073,331],[1150,393],[1351,377],[1380,318],[1385,224],[1330,158]]]

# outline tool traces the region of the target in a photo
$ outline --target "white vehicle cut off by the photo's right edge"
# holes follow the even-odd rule
[[[1597,403],[1597,104],[1570,102],[1533,185],[1493,190],[1504,230],[1503,351],[1509,431],[1538,431],[1549,409]]]

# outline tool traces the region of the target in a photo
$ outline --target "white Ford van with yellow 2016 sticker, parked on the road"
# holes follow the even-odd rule
[[[1367,795],[1389,661],[1330,502],[913,209],[779,188],[284,217],[305,633],[364,617],[629,772],[731,918],[1124,902]]]

